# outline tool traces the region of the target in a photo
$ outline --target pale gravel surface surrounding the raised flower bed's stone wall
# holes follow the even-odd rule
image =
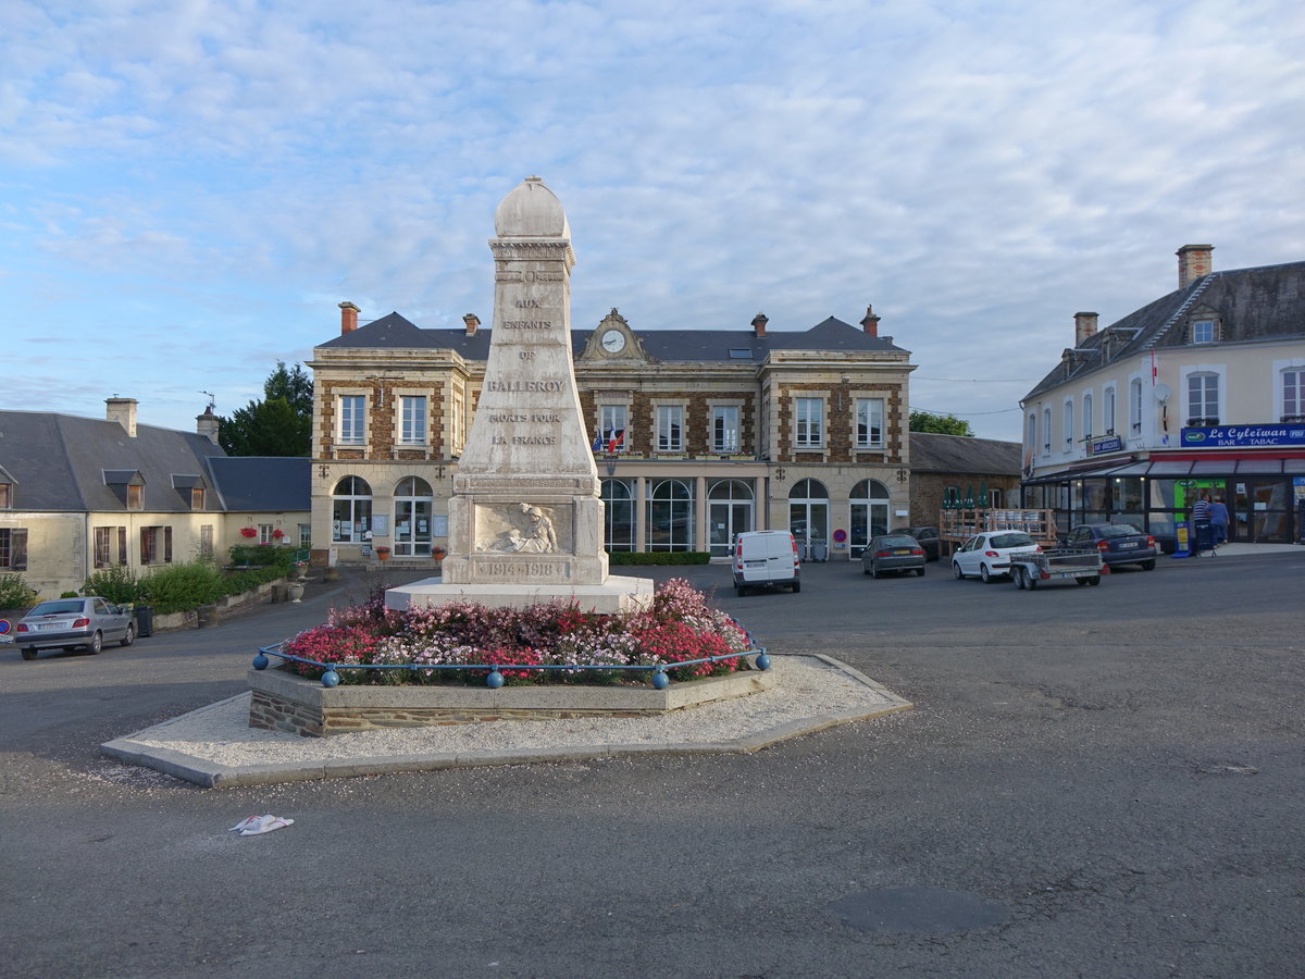
[[[677,710],[663,717],[572,721],[497,721],[476,724],[402,727],[301,738],[249,727],[243,693],[129,735],[147,748],[166,748],[228,766],[321,762],[442,752],[586,748],[600,744],[710,744],[731,741],[800,721],[863,717],[904,701],[869,677],[823,657],[773,655],[779,687],[763,693]]]

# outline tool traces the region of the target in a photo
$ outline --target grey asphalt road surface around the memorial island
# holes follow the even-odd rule
[[[0,653],[0,974],[1301,974],[1305,556],[1036,593],[804,574],[688,577],[917,709],[749,757],[204,791],[95,745],[238,692],[328,597]],[[296,824],[224,831],[253,812]]]

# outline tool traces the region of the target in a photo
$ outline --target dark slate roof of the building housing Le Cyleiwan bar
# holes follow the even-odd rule
[[[1194,279],[1094,333],[1082,345],[1086,352],[1071,355],[1069,369],[1061,360],[1024,401],[1148,350],[1186,346],[1188,322],[1201,316],[1219,319],[1219,343],[1305,337],[1305,262],[1214,272]]]

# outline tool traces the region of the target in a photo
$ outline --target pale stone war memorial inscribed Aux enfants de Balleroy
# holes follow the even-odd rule
[[[576,253],[561,202],[526,178],[495,211],[493,333],[449,501],[442,577],[392,589],[392,608],[552,599],[646,607],[652,582],[607,573],[598,467],[570,345]]]

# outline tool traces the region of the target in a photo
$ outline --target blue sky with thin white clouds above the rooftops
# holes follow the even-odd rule
[[[1019,439],[1071,346],[1305,258],[1300,0],[0,4],[0,406],[192,428],[398,311],[488,322],[538,174],[573,324],[856,322]]]

